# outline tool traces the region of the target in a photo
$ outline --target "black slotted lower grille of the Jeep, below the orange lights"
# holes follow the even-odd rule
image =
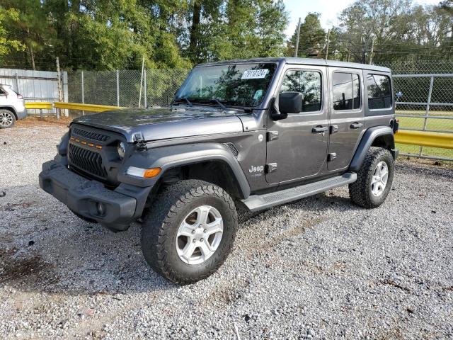
[[[71,143],[69,143],[69,164],[89,174],[103,179],[107,178],[107,171],[102,165],[101,154]]]

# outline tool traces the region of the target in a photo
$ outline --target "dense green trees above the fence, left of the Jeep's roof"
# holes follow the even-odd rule
[[[0,0],[5,52],[17,67],[188,68],[240,57],[282,55],[282,0]],[[9,13],[9,12],[8,12]],[[11,48],[14,39],[21,45]],[[6,40],[4,40],[6,44]]]

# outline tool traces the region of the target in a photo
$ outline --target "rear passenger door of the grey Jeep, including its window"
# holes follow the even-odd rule
[[[363,72],[360,69],[329,67],[331,79],[330,140],[328,170],[349,166],[364,131]]]

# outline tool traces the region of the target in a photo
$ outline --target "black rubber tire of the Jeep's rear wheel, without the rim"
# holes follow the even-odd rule
[[[371,181],[373,171],[379,162],[386,162],[389,169],[389,177],[381,196],[374,196],[371,191]],[[357,181],[349,185],[349,196],[352,202],[363,208],[377,208],[384,203],[389,194],[393,179],[394,158],[389,150],[381,147],[370,147],[360,171],[357,172]]]

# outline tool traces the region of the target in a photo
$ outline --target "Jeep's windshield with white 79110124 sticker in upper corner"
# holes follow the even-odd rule
[[[175,101],[258,106],[268,91],[276,64],[222,64],[197,67],[176,93]]]

